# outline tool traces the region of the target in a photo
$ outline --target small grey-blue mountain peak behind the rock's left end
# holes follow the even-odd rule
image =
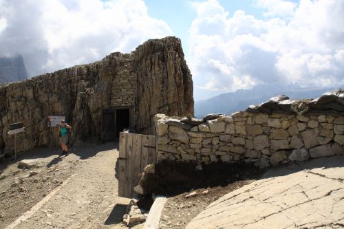
[[[21,55],[15,57],[0,57],[0,85],[28,78]]]

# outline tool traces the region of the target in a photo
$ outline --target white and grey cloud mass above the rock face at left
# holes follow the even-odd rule
[[[22,54],[31,76],[131,52],[147,39],[172,34],[149,17],[142,0],[4,0],[0,53]]]

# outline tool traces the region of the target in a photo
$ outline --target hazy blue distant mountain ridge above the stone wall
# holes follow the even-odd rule
[[[343,89],[344,85],[341,86]],[[288,86],[281,85],[262,85],[252,89],[239,89],[233,93],[221,94],[207,100],[195,102],[195,116],[202,118],[208,113],[234,113],[245,110],[249,105],[259,105],[269,98],[277,95],[286,95],[289,98],[318,98],[326,91],[337,89],[333,88],[297,88],[288,89]]]

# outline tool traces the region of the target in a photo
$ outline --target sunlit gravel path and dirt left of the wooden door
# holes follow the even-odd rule
[[[114,143],[75,146],[67,157],[58,149],[36,149],[1,162],[0,228],[122,228],[129,199],[118,197],[117,149]],[[44,166],[18,167],[32,158]],[[13,223],[25,212],[32,215]]]

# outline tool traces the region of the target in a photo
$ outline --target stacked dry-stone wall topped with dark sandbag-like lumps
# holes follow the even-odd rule
[[[335,96],[325,101],[329,94]],[[286,96],[277,96],[249,107],[250,112],[239,111],[230,116],[211,114],[202,120],[158,114],[155,116],[158,161],[205,164],[244,161],[265,167],[343,155],[343,95],[343,91],[338,90],[317,100],[289,100]],[[316,112],[312,109],[314,106]],[[327,107],[332,107],[333,111]],[[264,108],[268,108],[265,110],[268,112],[264,113]]]

